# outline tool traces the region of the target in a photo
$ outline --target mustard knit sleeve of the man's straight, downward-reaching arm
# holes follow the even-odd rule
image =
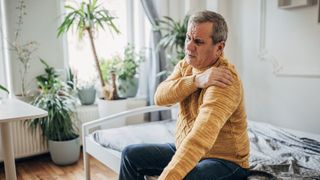
[[[159,179],[183,179],[212,148],[219,131],[236,110],[241,99],[240,81],[235,81],[226,88],[208,87],[192,130],[182,141]]]

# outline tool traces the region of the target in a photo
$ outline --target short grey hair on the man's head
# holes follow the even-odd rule
[[[199,24],[212,22],[212,42],[217,44],[221,41],[226,41],[228,38],[228,26],[224,18],[212,11],[199,11],[190,16],[188,24]]]

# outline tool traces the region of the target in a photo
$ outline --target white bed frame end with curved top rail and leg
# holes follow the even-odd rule
[[[95,130],[98,129],[110,129],[123,125],[118,123],[119,118],[126,118],[138,114],[144,114],[149,112],[171,110],[172,107],[160,107],[160,106],[147,106],[136,108],[128,111],[124,111],[118,114],[110,115],[104,118],[97,119],[95,121],[87,122],[82,125],[82,137],[83,137],[83,162],[85,170],[86,180],[90,179],[90,162],[89,156],[93,156],[104,165],[119,173],[121,153],[109,148],[105,148],[95,142],[92,136],[89,136]]]

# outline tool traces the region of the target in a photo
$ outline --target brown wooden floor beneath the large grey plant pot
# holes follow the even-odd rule
[[[117,179],[117,174],[98,162],[90,158],[91,179]],[[83,169],[82,153],[80,160],[69,166],[57,166],[49,154],[35,156],[28,159],[16,161],[18,180],[82,180],[85,179]],[[0,180],[5,179],[4,165],[0,164]]]

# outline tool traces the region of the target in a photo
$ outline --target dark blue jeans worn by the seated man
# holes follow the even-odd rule
[[[174,144],[135,144],[122,151],[120,180],[144,180],[144,176],[160,175],[176,152]],[[222,159],[201,160],[184,178],[186,180],[246,179],[247,171]]]

